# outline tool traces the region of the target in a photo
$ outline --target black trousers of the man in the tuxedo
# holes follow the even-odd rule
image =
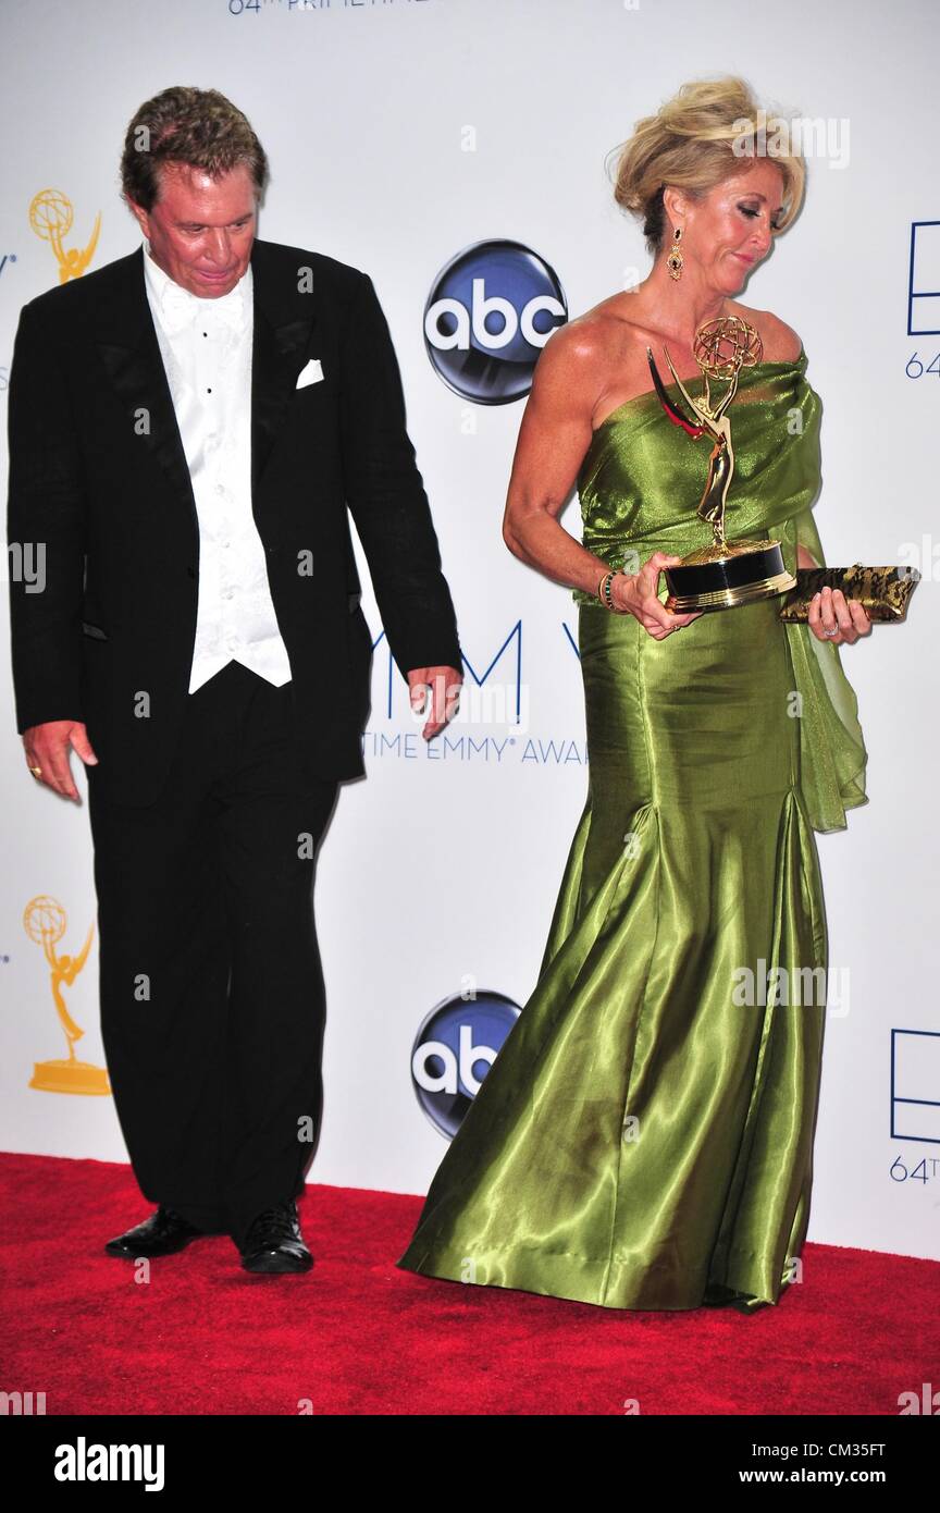
[[[292,685],[231,661],[187,696],[156,803],[88,767],[101,1035],[151,1203],[245,1238],[299,1197],[322,1117],[316,852],[339,784],[305,778]]]

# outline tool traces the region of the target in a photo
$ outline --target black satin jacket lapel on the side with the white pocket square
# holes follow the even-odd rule
[[[258,507],[258,484],[316,324],[313,309],[298,318],[299,269],[271,242],[255,239],[251,250],[254,281],[254,351],[251,360],[251,493]],[[304,295],[310,306],[313,295]]]

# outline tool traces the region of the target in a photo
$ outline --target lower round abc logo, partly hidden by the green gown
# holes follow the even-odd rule
[[[411,1082],[422,1109],[453,1139],[520,1008],[505,993],[458,993],[431,1009],[414,1039]]]

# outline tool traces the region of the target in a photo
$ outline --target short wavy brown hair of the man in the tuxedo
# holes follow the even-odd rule
[[[251,123],[218,89],[174,85],[141,106],[124,136],[124,198],[153,210],[160,168],[169,162],[203,168],[213,179],[245,163],[258,195],[267,179],[267,157]]]

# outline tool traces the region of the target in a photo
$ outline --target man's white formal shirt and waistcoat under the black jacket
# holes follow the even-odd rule
[[[199,520],[195,693],[230,661],[277,688],[290,681],[251,508],[251,263],[228,294],[201,300],[169,278],[144,242],[157,330]]]

